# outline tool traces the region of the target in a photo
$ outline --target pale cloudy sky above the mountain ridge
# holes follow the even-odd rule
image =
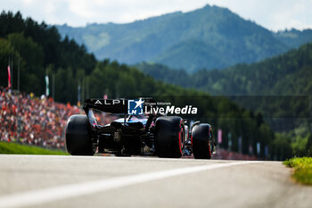
[[[124,23],[205,4],[229,8],[267,29],[312,29],[312,0],[0,0],[0,9],[48,24]]]

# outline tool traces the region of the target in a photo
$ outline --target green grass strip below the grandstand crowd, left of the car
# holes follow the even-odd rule
[[[38,146],[26,146],[16,143],[0,142],[0,154],[56,154],[69,155],[61,150],[50,150]]]

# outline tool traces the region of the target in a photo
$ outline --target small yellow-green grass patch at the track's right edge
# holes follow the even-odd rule
[[[312,157],[294,157],[283,162],[294,168],[292,177],[301,184],[312,185]]]

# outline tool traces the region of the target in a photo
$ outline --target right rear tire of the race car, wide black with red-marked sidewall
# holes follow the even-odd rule
[[[155,124],[155,150],[159,157],[179,158],[184,146],[182,119],[178,116],[162,116]]]

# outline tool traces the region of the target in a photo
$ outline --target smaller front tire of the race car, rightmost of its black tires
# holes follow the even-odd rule
[[[192,146],[193,155],[196,159],[210,159],[210,125],[208,123],[200,123],[192,129]]]

